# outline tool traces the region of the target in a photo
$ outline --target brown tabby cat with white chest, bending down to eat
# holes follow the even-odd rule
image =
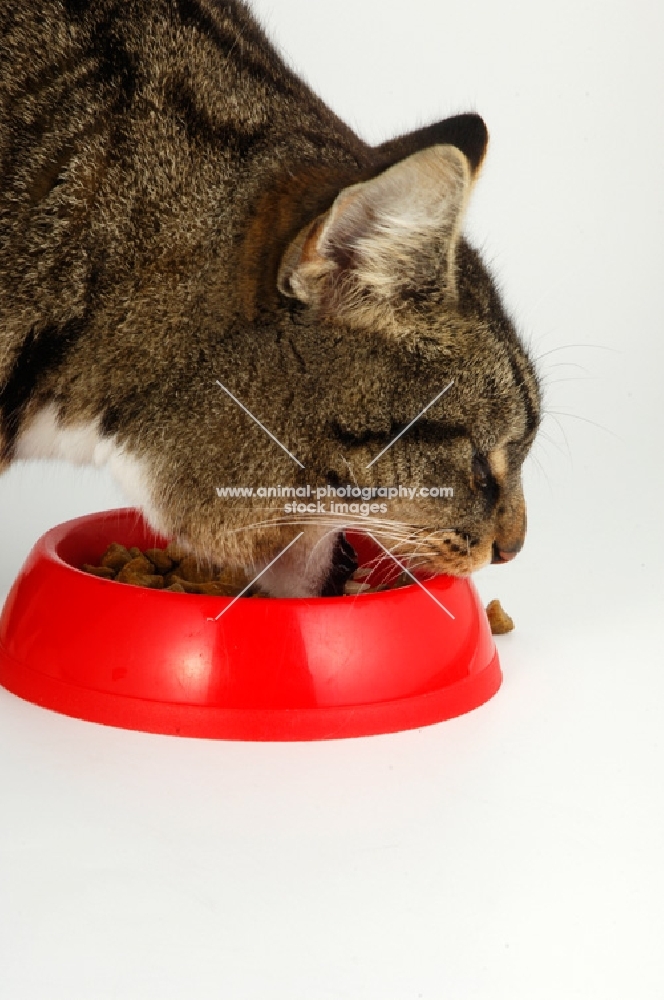
[[[278,597],[340,594],[351,528],[427,572],[512,558],[541,394],[461,232],[487,142],[468,113],[367,145],[240,0],[6,0],[0,470],[107,463]]]

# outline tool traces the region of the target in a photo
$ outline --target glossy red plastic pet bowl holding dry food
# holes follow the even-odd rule
[[[349,538],[361,564],[378,554],[366,536]],[[67,521],[32,549],[0,616],[0,683],[14,694],[145,732],[307,740],[441,722],[500,687],[498,654],[468,579],[233,602],[77,568],[97,563],[111,541],[145,549],[167,540],[123,509]]]

